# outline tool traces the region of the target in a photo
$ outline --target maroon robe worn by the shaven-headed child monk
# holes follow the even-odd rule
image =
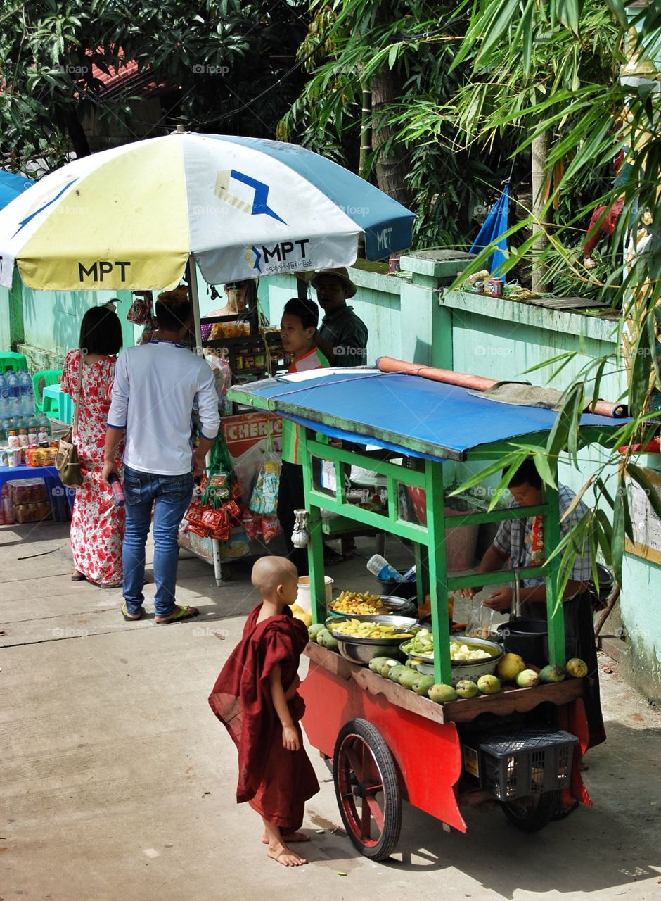
[[[297,678],[308,633],[288,607],[282,615],[258,623],[261,608],[258,604],[249,614],[243,638],[216,679],[209,704],[239,751],[237,801],[248,801],[268,823],[294,832],[303,824],[303,806],[319,791],[319,783],[303,750],[299,725],[305,710],[303,698],[297,694],[289,701],[301,747],[287,751],[271,698],[270,678],[279,665],[286,694]]]

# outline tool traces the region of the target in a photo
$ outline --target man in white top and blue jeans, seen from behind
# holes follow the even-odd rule
[[[191,501],[193,479],[204,473],[220,418],[212,369],[182,343],[193,319],[190,303],[168,292],[159,296],[155,313],[158,331],[153,340],[124,350],[117,359],[103,478],[107,482],[115,471],[114,452],[125,431],[122,614],[126,620],[139,620],[143,614],[145,543],[153,506],[155,622],[164,624],[200,612],[176,603],[177,534]],[[202,436],[194,451],[195,401]]]

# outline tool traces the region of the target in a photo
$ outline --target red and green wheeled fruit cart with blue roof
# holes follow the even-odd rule
[[[512,570],[486,576],[448,574],[446,466],[452,460],[497,460],[517,442],[543,446],[557,414],[494,403],[463,387],[374,369],[315,370],[233,387],[231,394],[303,426],[313,622],[323,622],[326,615],[322,510],[408,539],[415,546],[419,602],[430,593],[435,681],[451,683],[448,591],[485,581],[512,581]],[[584,415],[580,441],[607,443],[613,430],[611,419]],[[350,441],[352,450],[331,446],[330,439]],[[355,449],[359,441],[378,450]],[[336,469],[334,492],[319,484],[317,460],[331,460]],[[383,514],[349,504],[342,477],[353,463],[385,477],[388,504]],[[399,486],[425,491],[426,525],[402,518]],[[543,570],[522,568],[520,576],[546,578],[548,657],[550,663],[562,665],[566,660],[563,609],[556,594],[559,555],[551,558],[560,540],[557,491],[545,487],[542,505],[470,513],[466,522],[531,515],[546,517],[548,564]],[[498,800],[512,822],[527,831],[548,824],[561,806],[592,803],[579,769],[588,743],[582,701],[586,680],[506,687],[498,694],[439,705],[316,644],[310,643],[306,654],[311,662],[301,687],[306,703],[303,727],[312,746],[332,761],[342,820],[351,842],[367,857],[384,860],[394,851],[403,799],[437,817],[445,828],[461,832],[466,832],[459,810],[464,803]],[[556,741],[562,734],[558,730],[569,733],[573,754],[566,743],[561,748]],[[484,736],[503,734],[521,739],[520,751],[507,746],[498,758],[496,749],[494,763],[493,755],[484,754]],[[527,742],[526,735],[534,736],[534,741]]]

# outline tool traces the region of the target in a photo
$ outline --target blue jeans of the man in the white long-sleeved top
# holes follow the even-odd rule
[[[179,546],[177,532],[193,496],[193,473],[158,476],[124,467],[126,529],[122,545],[124,600],[130,614],[144,601],[145,543],[154,507],[154,608],[168,616],[175,608]],[[156,503],[154,503],[156,502]]]

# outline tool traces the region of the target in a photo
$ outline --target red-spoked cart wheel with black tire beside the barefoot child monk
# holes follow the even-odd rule
[[[367,720],[349,720],[342,727],[333,782],[349,839],[365,857],[385,860],[402,829],[402,793],[393,755]]]

